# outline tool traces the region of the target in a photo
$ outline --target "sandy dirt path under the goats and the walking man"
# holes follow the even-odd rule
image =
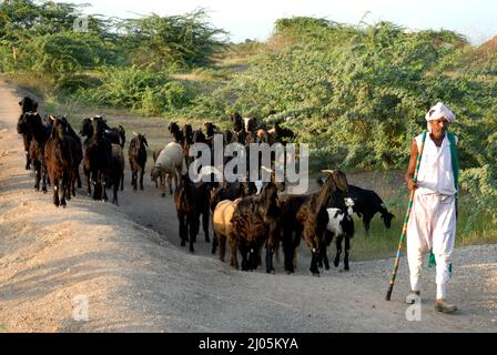
[[[58,210],[34,192],[14,125],[17,92],[0,83],[0,332],[495,332],[497,246],[455,255],[454,301],[433,310],[426,272],[422,322],[408,322],[405,260],[394,300],[384,302],[392,260],[352,263],[308,275],[241,273],[210,255],[181,250],[171,196],[126,189],[121,207],[79,195]],[[148,179],[149,180],[149,179]],[[459,265],[459,266],[457,266]],[[464,266],[463,266],[464,265]],[[88,322],[72,316],[89,301]]]

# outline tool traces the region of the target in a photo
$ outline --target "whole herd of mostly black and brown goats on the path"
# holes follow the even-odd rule
[[[34,170],[36,190],[40,191],[41,187],[47,193],[50,184],[55,206],[65,206],[67,201],[75,196],[75,186],[82,187],[82,164],[87,194],[94,200],[106,201],[106,190],[112,187],[112,202],[118,204],[118,191],[124,189],[124,129],[109,128],[102,116],[85,119],[80,130],[84,138],[82,142],[64,116],[42,118],[38,103],[30,98],[22,99],[19,104],[22,113],[17,129],[22,134],[27,152],[26,169]],[[201,221],[205,241],[211,242],[209,231],[212,221],[212,253],[215,254],[219,247],[221,261],[224,262],[227,242],[231,265],[240,266],[240,253],[242,271],[252,271],[261,265],[262,250],[265,247],[266,272],[274,273],[273,256],[282,246],[284,268],[293,273],[296,248],[304,240],[312,253],[311,272],[318,275],[320,267],[329,268],[326,248],[334,239],[337,250],[334,265],[337,267],[339,264],[345,240],[344,265],[346,271],[349,270],[349,241],[355,230],[353,213],[363,219],[366,232],[376,213],[381,213],[386,227],[390,226],[394,215],[387,211],[382,199],[373,191],[349,185],[341,171],[323,171],[326,178],[320,181],[320,190],[308,195],[282,194],[285,184],[276,182],[271,170],[264,166],[261,170],[266,170],[272,176],[266,183],[193,182],[187,173],[187,166],[192,163],[187,153],[190,146],[194,143],[212,145],[214,134],[223,134],[225,144],[237,142],[245,146],[261,142],[285,144],[295,138],[291,130],[280,124],[266,130],[254,119],[242,119],[240,114],[232,115],[231,120],[233,129],[224,132],[212,123],[205,123],[203,131],[193,130],[189,124],[181,129],[172,122],[168,130],[174,142],[152,152],[154,165],[151,180],[156,186],[161,185],[163,196],[166,183],[170,193],[174,194],[181,243],[182,246],[189,243],[190,252],[194,252]],[[134,135],[128,155],[132,186],[138,191],[144,189],[149,143],[145,135]],[[212,171],[207,170],[207,173]]]

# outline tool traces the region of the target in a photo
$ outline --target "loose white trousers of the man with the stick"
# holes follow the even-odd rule
[[[420,291],[423,253],[433,250],[437,263],[437,300],[446,298],[446,285],[450,280],[450,256],[455,239],[456,197],[454,195],[416,193],[407,224],[407,260],[413,291]]]

